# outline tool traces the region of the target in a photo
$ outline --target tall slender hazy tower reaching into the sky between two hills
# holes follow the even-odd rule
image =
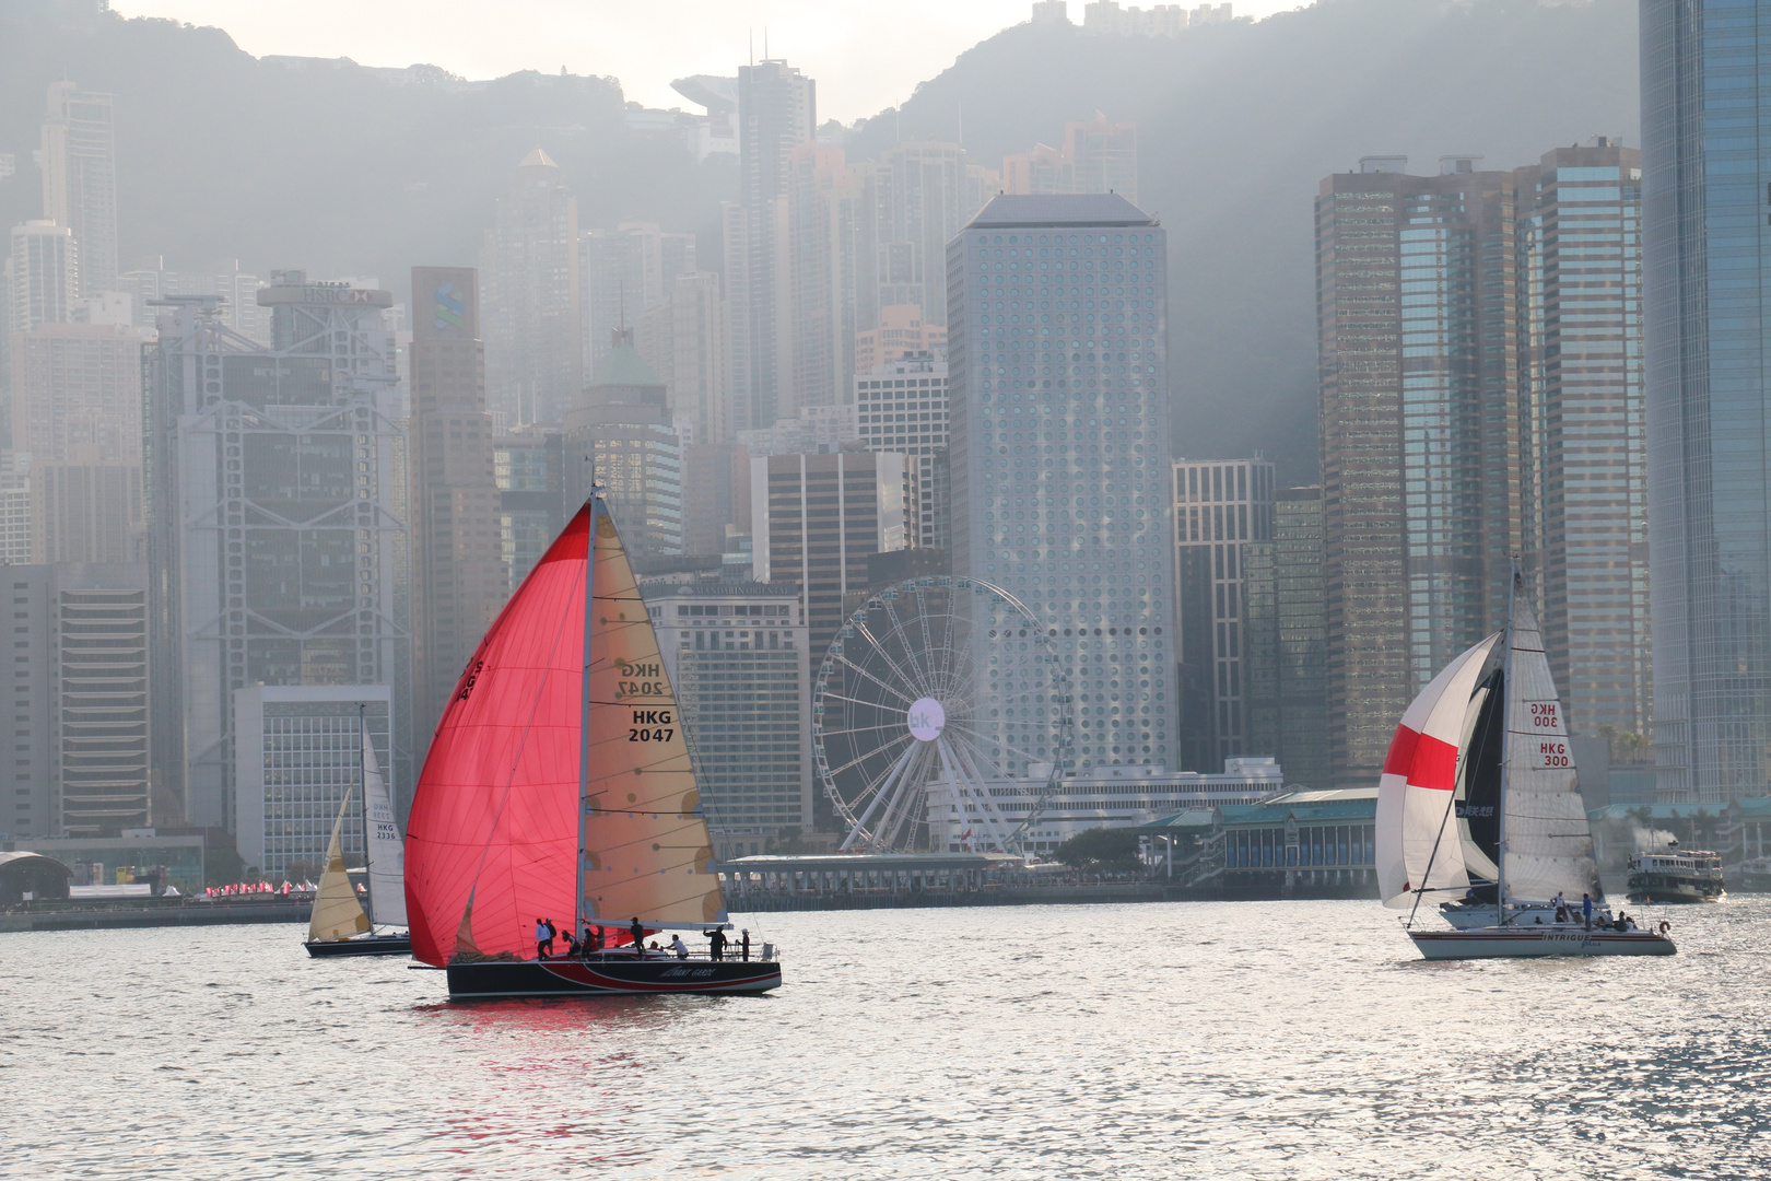
[[[811,78],[783,60],[739,69],[739,204],[724,216],[739,430],[792,413],[793,151],[816,138],[816,126]]]

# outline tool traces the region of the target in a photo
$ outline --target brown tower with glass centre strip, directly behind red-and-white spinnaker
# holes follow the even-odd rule
[[[1520,551],[1514,177],[1406,163],[1316,198],[1328,724],[1358,786],[1415,691],[1504,623]]]

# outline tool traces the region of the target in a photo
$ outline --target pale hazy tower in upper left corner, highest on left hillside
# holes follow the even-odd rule
[[[43,120],[43,216],[80,243],[81,294],[117,289],[117,129],[110,94],[50,83]]]

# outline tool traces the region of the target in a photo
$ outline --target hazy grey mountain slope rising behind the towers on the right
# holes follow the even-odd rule
[[[1079,5],[1071,5],[1073,9]],[[1169,228],[1176,455],[1263,450],[1316,473],[1312,198],[1360,156],[1534,163],[1590,135],[1638,143],[1633,0],[1321,0],[1174,39],[1018,25],[967,50],[855,154],[947,138],[983,159],[1139,124],[1139,204]]]

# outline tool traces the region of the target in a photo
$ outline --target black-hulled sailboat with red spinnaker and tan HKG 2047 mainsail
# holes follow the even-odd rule
[[[414,790],[406,903],[413,954],[452,999],[781,984],[767,944],[715,958],[730,922],[701,795],[600,490],[455,683]],[[583,931],[588,951],[549,953],[537,926]],[[657,931],[719,938],[684,958],[639,946]]]

